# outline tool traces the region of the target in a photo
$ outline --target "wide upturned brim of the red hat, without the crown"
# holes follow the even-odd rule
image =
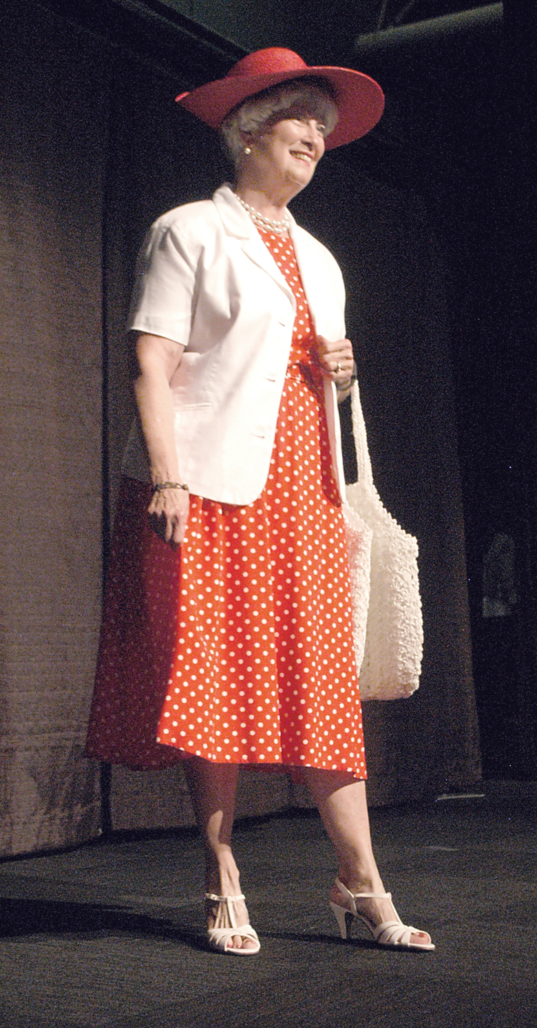
[[[327,137],[327,150],[352,143],[370,132],[384,110],[384,94],[375,79],[351,68],[304,68],[264,75],[217,79],[192,93],[182,93],[177,102],[196,117],[219,128],[237,104],[279,82],[296,78],[323,78],[332,85],[338,108],[338,123]]]

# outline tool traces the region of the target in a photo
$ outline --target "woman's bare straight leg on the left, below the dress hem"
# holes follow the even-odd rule
[[[184,762],[190,798],[205,851],[205,889],[216,895],[239,895],[239,873],[231,850],[231,832],[235,812],[238,765],[213,764],[200,757]],[[238,924],[247,924],[244,903],[235,905]],[[227,910],[207,901],[207,926],[230,927]],[[255,944],[234,935],[236,949],[254,949]]]

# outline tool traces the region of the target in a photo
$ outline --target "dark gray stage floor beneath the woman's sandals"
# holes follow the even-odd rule
[[[207,952],[193,835],[0,865],[1,1028],[535,1028],[537,787],[372,811],[434,953],[337,938],[316,817],[238,825],[257,957]]]

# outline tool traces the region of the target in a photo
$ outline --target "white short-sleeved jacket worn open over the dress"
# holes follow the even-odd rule
[[[292,221],[291,235],[316,331],[345,336],[345,290],[329,251]],[[172,380],[182,480],[196,495],[243,506],[268,477],[295,320],[293,291],[227,185],[213,199],[154,223],[139,259],[130,328],[186,348]],[[325,407],[345,498],[336,390]],[[123,473],[149,480],[138,426]]]

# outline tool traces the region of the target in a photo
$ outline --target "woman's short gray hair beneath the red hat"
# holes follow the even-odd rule
[[[241,133],[257,132],[274,115],[289,111],[298,103],[307,105],[307,113],[322,121],[327,127],[325,136],[336,127],[338,108],[329,82],[312,76],[272,85],[234,107],[220,126],[224,146],[235,169],[244,150]]]

